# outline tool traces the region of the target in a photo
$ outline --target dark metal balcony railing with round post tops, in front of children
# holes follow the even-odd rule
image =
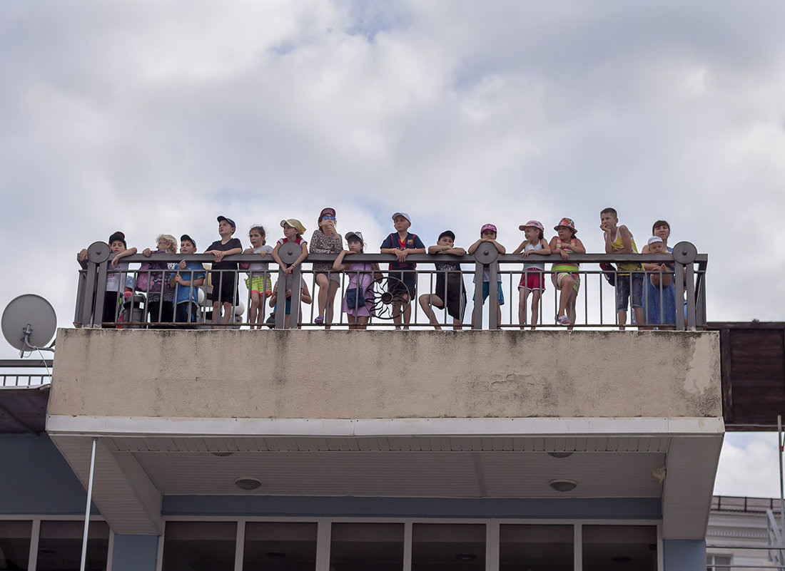
[[[284,264],[290,264],[300,254],[300,246],[294,244],[294,247],[287,248],[284,245],[279,249],[279,256]],[[162,309],[163,303],[147,304],[149,293],[138,292],[123,292],[126,285],[132,288],[137,278],[141,275],[147,276],[147,282],[151,282],[151,277],[158,274],[161,278],[160,282],[163,284],[162,300],[166,303],[172,303],[171,296],[169,300],[166,299],[166,290],[168,288],[170,275],[173,275],[177,270],[174,269],[175,264],[179,264],[181,260],[187,262],[197,262],[199,264],[211,264],[214,261],[213,256],[208,254],[153,254],[152,256],[145,257],[141,254],[133,256],[126,256],[122,262],[125,264],[139,264],[144,262],[156,262],[164,266],[170,266],[167,269],[158,270],[134,270],[134,269],[113,269],[108,264],[108,246],[102,242],[96,242],[90,246],[88,250],[88,261],[83,264],[82,270],[79,272],[79,288],[77,292],[76,308],[74,324],[78,327],[122,327],[130,329],[138,329],[142,327],[187,327],[187,328],[213,328],[217,326],[228,326],[238,328],[240,326],[253,326],[261,327],[259,324],[251,324],[248,318],[247,309],[251,304],[250,292],[243,293],[241,284],[245,283],[246,274],[245,270],[210,270],[206,269],[206,276],[211,276],[211,286],[201,286],[199,289],[199,306],[195,311],[192,322],[176,322],[174,318],[168,317]],[[292,268],[290,275],[285,274],[284,267],[277,267],[277,264],[272,260],[272,256],[266,256],[265,262],[269,264],[269,276],[272,282],[277,282],[276,297],[277,300],[287,298],[287,281],[291,283],[305,282],[305,288],[312,296],[312,302],[305,304],[305,312],[301,310],[301,297],[305,289],[290,288],[290,315],[286,319],[284,311],[276,311],[274,318],[268,317],[269,298],[261,298],[261,311],[265,311],[265,325],[268,327],[275,327],[276,329],[295,328],[295,327],[321,327],[322,324],[316,320],[319,316],[316,310],[316,273],[310,267],[315,263],[330,263],[334,261],[335,256],[331,254],[318,254],[309,255],[302,264],[298,264]],[[224,261],[237,262],[237,263],[258,263],[260,261],[257,254],[237,254],[235,256],[227,256]],[[447,254],[418,254],[407,256],[407,262],[418,264],[415,270],[389,271],[385,265],[396,261],[396,256],[391,254],[371,254],[371,253],[353,253],[351,256],[346,256],[346,263],[351,262],[358,264],[369,264],[368,269],[361,271],[349,272],[330,272],[331,275],[338,275],[340,278],[340,287],[338,293],[334,296],[334,316],[332,323],[325,324],[338,328],[345,328],[349,325],[345,312],[341,311],[344,296],[349,285],[349,275],[371,275],[372,279],[370,286],[363,290],[362,299],[369,307],[373,308],[371,311],[371,318],[369,326],[372,329],[378,328],[391,328],[396,326],[396,322],[400,322],[403,317],[403,310],[408,307],[411,310],[411,328],[417,329],[433,329],[429,322],[429,316],[422,310],[421,305],[418,303],[418,296],[422,294],[436,293],[436,282],[440,280],[439,276],[444,279],[447,275],[461,276],[462,286],[455,286],[459,283],[455,278],[446,279],[447,282],[447,297],[451,294],[455,295],[455,289],[462,288],[458,292],[458,297],[462,297],[462,293],[466,294],[466,307],[462,311],[462,318],[458,328],[467,329],[526,329],[532,326],[531,323],[522,324],[519,319],[519,306],[520,296],[518,286],[522,277],[527,277],[533,271],[524,271],[524,257],[519,254],[498,254],[492,245],[481,245],[476,250],[474,255],[469,256],[451,256]],[[545,278],[546,286],[538,304],[539,319],[536,327],[554,328],[558,327],[555,323],[553,315],[556,315],[559,307],[560,292],[553,285],[553,277],[561,272],[554,272],[550,269],[551,264],[563,264],[563,260],[559,254],[551,254],[549,256],[537,256],[536,259],[525,259],[528,263],[541,263],[546,264],[546,270],[542,272],[542,277]],[[459,271],[436,271],[433,269],[433,264],[442,263],[458,264],[461,269]],[[573,275],[578,275],[581,281],[579,292],[577,294],[576,316],[575,322],[572,326],[579,328],[613,328],[619,326],[618,311],[616,310],[615,302],[615,289],[606,281],[610,278],[616,281],[630,280],[633,281],[633,276],[641,275],[645,282],[649,282],[652,276],[668,276],[672,279],[673,285],[670,287],[660,286],[659,289],[650,289],[648,285],[644,285],[644,299],[643,299],[643,315],[644,323],[631,323],[632,318],[628,319],[627,326],[637,327],[638,329],[703,329],[706,327],[706,269],[707,269],[707,255],[699,254],[695,246],[689,242],[680,242],[674,247],[674,253],[662,254],[571,254],[569,256],[569,263],[580,264],[579,270],[571,272]],[[674,267],[673,271],[666,272],[649,272],[649,271],[618,271],[601,269],[599,264],[670,264]],[[382,267],[381,271],[371,269],[370,264],[379,264]],[[383,265],[384,264],[384,265]],[[428,267],[425,267],[427,264]],[[191,271],[191,270],[184,270]],[[106,282],[108,275],[112,272],[120,273],[119,288],[116,292],[106,292]],[[406,300],[400,292],[406,291],[402,283],[400,283],[400,274],[413,274],[414,280],[417,284],[416,295],[411,296],[411,299]],[[487,281],[490,284],[499,282],[501,284],[502,296],[505,299],[504,304],[501,306],[500,311],[495,311],[495,291],[491,288],[490,300],[481,303],[473,303],[473,300],[483,300],[483,277],[484,273],[487,276]],[[214,325],[212,322],[213,299],[219,299],[221,289],[220,275],[232,275],[234,277],[235,286],[238,289],[237,297],[231,297],[231,307],[228,311],[230,320],[228,324],[217,323]],[[472,280],[469,276],[473,276]],[[359,279],[359,277],[358,277]],[[207,284],[210,284],[206,280]],[[450,286],[450,283],[453,286]],[[450,289],[450,288],[453,289]],[[672,288],[672,289],[671,289]],[[442,290],[444,292],[444,289]],[[654,291],[654,293],[651,293]],[[648,294],[646,293],[648,292]],[[157,294],[158,292],[154,292]],[[652,296],[659,297],[660,318],[659,322],[650,322],[648,319],[648,312],[650,305],[655,304]],[[664,315],[663,307],[665,304],[666,296],[673,296],[673,308],[670,315]],[[102,320],[102,313],[104,302],[106,299],[117,298],[119,304],[116,307],[114,320]],[[610,297],[611,303],[608,303]],[[329,302],[329,299],[328,299]],[[525,303],[531,305],[531,300],[526,299]],[[670,303],[670,302],[669,302]],[[111,302],[110,302],[111,304]],[[155,307],[156,311],[151,314],[150,307]],[[550,308],[546,311],[546,307]],[[633,315],[632,307],[629,307],[630,316]],[[433,308],[434,314],[439,314],[440,309]],[[530,308],[526,308],[527,315]],[[288,322],[288,325],[286,324]],[[453,318],[447,315],[444,311],[444,316],[438,320],[440,327],[453,327],[455,324]],[[405,324],[404,324],[405,325]]]

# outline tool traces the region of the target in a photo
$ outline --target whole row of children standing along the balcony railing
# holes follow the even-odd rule
[[[605,252],[608,254],[638,253],[637,245],[630,230],[619,224],[615,209],[603,209],[600,213],[600,228],[603,231]],[[319,213],[317,229],[312,234],[310,250],[308,243],[303,238],[305,226],[300,220],[291,218],[281,220],[283,238],[280,238],[274,247],[267,245],[265,228],[254,224],[248,236],[251,247],[243,250],[238,238],[233,235],[236,231],[234,220],[226,216],[218,216],[217,241],[213,242],[205,253],[214,256],[210,270],[213,297],[213,322],[217,326],[226,326],[233,318],[235,307],[239,303],[237,275],[239,270],[246,271],[246,287],[250,293],[249,322],[254,327],[261,328],[265,324],[265,302],[278,308],[278,287],[273,286],[268,268],[268,256],[283,267],[283,276],[286,279],[285,291],[285,322],[289,327],[290,296],[292,291],[292,278],[294,267],[301,264],[309,253],[333,254],[332,264],[329,262],[315,262],[313,264],[314,280],[319,288],[317,296],[318,315],[314,319],[317,325],[329,329],[334,319],[334,297],[340,287],[340,273],[348,275],[348,285],[341,304],[341,310],[347,316],[349,329],[364,329],[374,315],[373,283],[382,282],[384,276],[379,271],[378,264],[352,262],[352,254],[363,253],[365,242],[360,231],[350,231],[343,238],[346,239],[348,249],[343,247],[343,238],[336,229],[337,220],[335,210],[325,208]],[[396,260],[389,264],[387,273],[386,291],[391,296],[392,318],[396,328],[408,329],[411,323],[411,300],[415,299],[417,275],[414,270],[416,264],[407,260],[412,254],[425,253],[422,240],[409,231],[411,217],[404,212],[392,215],[394,231],[390,233],[380,246],[381,253],[393,254]],[[553,287],[559,292],[558,309],[555,321],[560,326],[571,329],[575,324],[575,303],[581,285],[579,264],[571,259],[571,254],[586,253],[586,248],[577,237],[575,223],[570,218],[562,218],[553,227],[557,235],[550,241],[545,238],[545,227],[539,220],[529,220],[519,227],[524,232],[524,240],[513,250],[513,254],[520,254],[523,258],[523,273],[518,285],[519,309],[518,317],[521,329],[531,324],[535,329],[539,322],[539,306],[542,293],[546,289],[545,264],[538,261],[538,256],[559,254],[561,260],[553,263],[550,278]],[[498,253],[506,253],[506,248],[497,242],[497,228],[493,224],[484,224],[480,228],[480,238],[469,246],[468,250],[455,245],[455,234],[444,231],[439,235],[436,245],[428,248],[428,253],[439,257],[436,265],[436,287],[433,293],[419,296],[418,301],[429,322],[440,329],[439,320],[434,315],[433,309],[444,309],[453,319],[453,329],[462,329],[464,312],[466,309],[466,288],[463,283],[460,264],[456,261],[458,256],[476,252],[480,246],[491,245]],[[648,238],[647,245],[641,253],[665,253],[671,249],[667,246],[670,235],[670,226],[664,220],[655,222],[652,228],[652,238]],[[151,256],[153,253],[175,253],[177,243],[171,235],[159,235],[156,240],[157,249],[145,249],[142,254]],[[279,256],[280,248],[287,243],[294,243],[298,256],[291,264],[285,264]],[[115,232],[109,238],[111,250],[111,270],[108,274],[106,293],[104,296],[103,322],[117,320],[119,296],[132,295],[134,289],[147,293],[147,311],[152,322],[172,323],[175,326],[194,326],[197,320],[199,304],[198,288],[206,280],[203,266],[196,262],[182,260],[179,264],[156,263],[155,261],[142,264],[134,280],[127,273],[128,264],[121,260],[126,256],[137,253],[136,248],[128,248],[122,232]],[[180,252],[183,254],[196,253],[196,243],[188,235],[182,235]],[[224,260],[226,256],[246,253],[257,254],[261,260],[238,264],[235,261]],[[86,250],[79,253],[80,261],[86,260]],[[498,264],[498,263],[495,263]],[[666,264],[639,264],[637,262],[620,263],[618,268],[601,264],[609,282],[615,285],[615,302],[619,317],[619,328],[626,325],[628,302],[633,307],[634,321],[637,326],[651,326],[654,324],[669,326],[675,323],[675,294],[673,292],[673,267]],[[644,271],[646,273],[644,273]],[[502,290],[502,277],[498,272],[488,271],[483,275],[482,304],[491,296],[491,274],[496,278],[496,295],[491,304],[496,312],[497,322],[501,322],[501,306],[504,302]],[[165,276],[166,278],[162,278]],[[146,278],[146,279],[145,279]],[[120,282],[122,281],[122,287]],[[645,287],[644,287],[645,283]],[[312,296],[303,278],[300,278],[300,299],[302,302],[312,303]],[[531,318],[527,320],[528,298],[531,296]],[[671,299],[673,298],[673,299]],[[644,307],[647,311],[644,314]]]

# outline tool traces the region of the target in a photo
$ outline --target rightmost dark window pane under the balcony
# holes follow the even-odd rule
[[[656,571],[655,526],[583,526],[583,569]]]

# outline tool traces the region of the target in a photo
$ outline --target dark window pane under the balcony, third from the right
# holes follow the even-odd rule
[[[485,571],[485,525],[415,523],[411,571]]]

